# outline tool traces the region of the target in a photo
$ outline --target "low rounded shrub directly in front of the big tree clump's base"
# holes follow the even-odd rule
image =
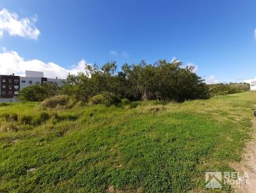
[[[120,104],[121,100],[118,96],[113,93],[104,92],[99,95],[95,95],[89,100],[89,104],[102,104],[106,105],[107,107],[111,105],[118,105]]]

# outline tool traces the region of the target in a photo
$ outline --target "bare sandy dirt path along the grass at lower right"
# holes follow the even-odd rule
[[[239,185],[232,185],[234,192],[239,193],[255,193],[256,192],[256,118],[253,117],[252,139],[246,143],[244,154],[241,162],[232,164],[239,176],[243,176],[239,180]],[[245,175],[244,175],[245,174]],[[246,178],[248,176],[248,178]]]

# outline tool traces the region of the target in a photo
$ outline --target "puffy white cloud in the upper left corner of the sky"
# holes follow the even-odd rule
[[[6,32],[10,36],[37,39],[40,31],[35,26],[36,20],[36,16],[31,20],[28,17],[19,19],[17,13],[3,9],[0,11],[0,37]]]

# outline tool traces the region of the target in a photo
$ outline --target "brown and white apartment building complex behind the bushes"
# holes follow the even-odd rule
[[[26,70],[26,76],[20,77],[17,75],[0,75],[0,98],[17,98],[19,95],[19,90],[27,86],[44,82],[56,82],[58,86],[61,86],[62,82],[65,80],[58,79],[48,79],[44,77],[44,72],[36,72]]]

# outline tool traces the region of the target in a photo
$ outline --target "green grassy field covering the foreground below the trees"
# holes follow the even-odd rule
[[[1,106],[0,192],[207,191],[205,171],[232,171],[240,160],[253,104],[256,92],[76,106],[48,111],[45,123],[35,121],[36,103]],[[32,120],[4,118],[11,112]]]

